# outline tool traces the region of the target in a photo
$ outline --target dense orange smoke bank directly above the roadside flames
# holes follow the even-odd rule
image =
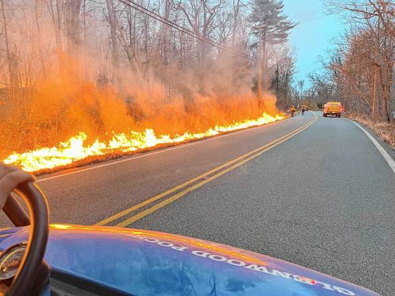
[[[143,77],[123,69],[121,90],[110,82],[76,80],[75,67],[66,64],[61,71],[48,73],[28,91],[16,90],[14,103],[8,99],[11,106],[0,122],[2,156],[51,147],[78,132],[85,132],[91,141],[147,128],[173,136],[256,119],[263,112],[277,113],[276,98],[265,94],[259,106],[252,74],[226,58],[198,73],[173,71],[169,85],[160,83],[161,77],[149,77],[149,84],[137,83]]]

